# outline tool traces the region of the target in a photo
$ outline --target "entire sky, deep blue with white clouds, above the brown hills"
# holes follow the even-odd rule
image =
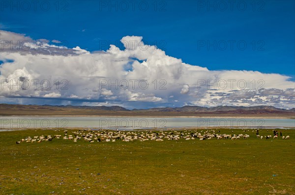
[[[295,107],[294,0],[1,1],[0,11],[0,44],[48,41],[0,45],[1,103]],[[134,41],[148,49],[123,45]],[[149,87],[101,87],[101,78]],[[26,79],[66,80],[68,89],[11,88]],[[227,86],[212,89],[216,80]]]

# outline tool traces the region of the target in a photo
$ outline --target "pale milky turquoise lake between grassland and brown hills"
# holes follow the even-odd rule
[[[0,117],[1,131],[27,128],[81,127],[91,129],[167,128],[295,128],[294,119],[140,118],[140,117]]]

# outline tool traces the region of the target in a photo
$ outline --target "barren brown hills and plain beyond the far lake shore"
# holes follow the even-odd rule
[[[295,119],[295,109],[273,106],[183,106],[128,110],[120,106],[52,106],[0,104],[1,116],[255,117]]]

